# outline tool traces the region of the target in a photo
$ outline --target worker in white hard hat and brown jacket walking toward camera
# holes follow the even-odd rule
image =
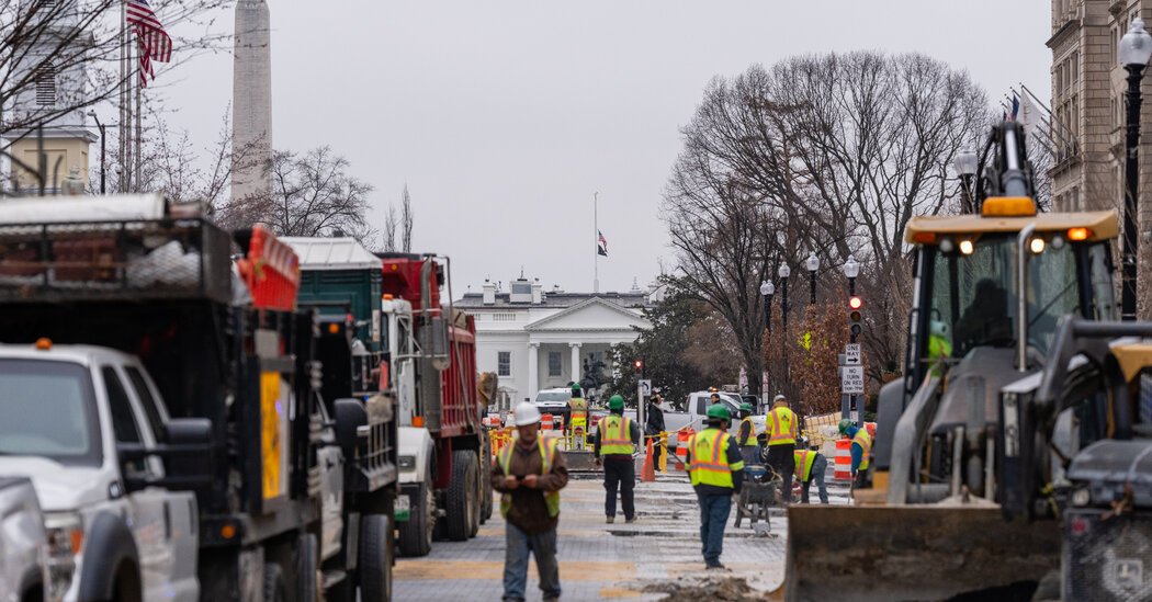
[[[492,464],[492,488],[500,491],[500,516],[507,521],[503,600],[524,600],[529,553],[536,556],[544,600],[560,600],[556,525],[568,468],[563,454],[556,451],[556,440],[539,436],[536,405],[516,406],[514,421],[515,443],[505,445]]]

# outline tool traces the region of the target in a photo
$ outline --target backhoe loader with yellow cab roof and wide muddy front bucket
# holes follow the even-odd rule
[[[879,394],[873,486],[789,508],[789,600],[1030,595],[1059,529],[1002,518],[1001,394],[1053,361],[1059,320],[1115,317],[1115,212],[1038,213],[1022,130],[994,128],[978,214],[912,218],[904,376]],[[1010,481],[1008,481],[1010,482]]]

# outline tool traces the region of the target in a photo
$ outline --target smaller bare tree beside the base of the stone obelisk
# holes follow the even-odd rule
[[[328,146],[303,155],[275,151],[267,166],[271,190],[232,199],[220,209],[229,227],[262,222],[281,236],[327,236],[341,231],[361,241],[374,236],[365,219],[372,185],[348,173],[349,162]]]

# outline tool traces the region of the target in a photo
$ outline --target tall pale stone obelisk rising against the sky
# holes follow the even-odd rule
[[[268,190],[264,174],[272,159],[271,20],[265,0],[236,2],[236,47],[232,81],[232,198]]]

